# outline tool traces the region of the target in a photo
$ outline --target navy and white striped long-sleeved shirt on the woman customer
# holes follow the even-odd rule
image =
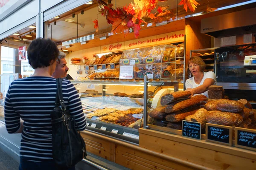
[[[8,133],[15,133],[23,119],[20,156],[30,161],[52,159],[52,124],[50,112],[55,108],[56,79],[28,77],[11,83],[6,94],[4,115]],[[79,130],[86,127],[81,100],[74,85],[62,81],[64,103],[75,116]]]

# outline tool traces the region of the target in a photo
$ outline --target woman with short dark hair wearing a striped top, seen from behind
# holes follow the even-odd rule
[[[5,123],[9,133],[22,133],[19,170],[57,170],[52,158],[52,123],[55,108],[56,79],[52,73],[59,51],[55,42],[38,38],[28,48],[28,60],[34,74],[11,83],[5,100]],[[62,81],[64,103],[79,130],[86,127],[81,100],[73,84]],[[22,120],[20,120],[20,118]],[[70,168],[74,170],[75,167]]]

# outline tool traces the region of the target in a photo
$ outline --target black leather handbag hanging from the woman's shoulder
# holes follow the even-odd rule
[[[57,79],[55,108],[51,111],[52,156],[58,167],[65,168],[73,167],[87,155],[75,119],[64,105],[61,84],[62,79]]]

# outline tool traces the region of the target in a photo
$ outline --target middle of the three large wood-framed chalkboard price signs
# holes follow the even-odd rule
[[[232,145],[232,127],[206,124],[206,140],[220,144]]]

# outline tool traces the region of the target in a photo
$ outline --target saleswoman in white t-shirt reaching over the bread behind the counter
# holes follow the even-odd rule
[[[216,84],[216,76],[212,71],[204,72],[205,62],[201,57],[191,57],[188,64],[188,73],[193,77],[186,80],[186,91],[192,95],[203,94],[208,97],[208,87]]]

